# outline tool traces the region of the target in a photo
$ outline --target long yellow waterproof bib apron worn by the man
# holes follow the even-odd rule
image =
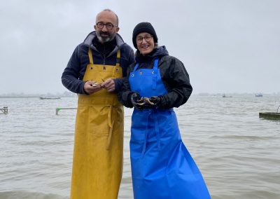
[[[121,78],[120,50],[116,66],[93,64],[88,50],[83,81]],[[116,93],[100,90],[78,95],[71,199],[117,199],[123,174],[123,106]]]

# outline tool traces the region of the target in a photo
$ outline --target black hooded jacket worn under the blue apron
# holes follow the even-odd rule
[[[173,107],[180,107],[185,104],[193,91],[190,85],[190,78],[183,63],[176,57],[169,56],[165,46],[155,48],[151,53],[143,56],[137,51],[136,62],[139,63],[138,69],[152,69],[153,62],[159,58],[158,69],[160,69],[160,76],[162,82],[167,89],[167,94],[161,97],[159,104],[160,109],[170,109]],[[127,74],[133,71],[136,63],[131,64]],[[129,76],[125,78],[123,87],[118,93],[118,99],[125,107],[132,108]]]

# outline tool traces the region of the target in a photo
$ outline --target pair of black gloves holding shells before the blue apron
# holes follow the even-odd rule
[[[138,110],[156,109],[160,104],[160,97],[140,97],[140,95],[137,92],[133,92],[131,95],[131,102],[133,107]]]

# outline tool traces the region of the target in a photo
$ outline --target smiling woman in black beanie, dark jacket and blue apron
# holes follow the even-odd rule
[[[134,107],[130,158],[135,199],[210,198],[200,170],[184,146],[173,107],[193,90],[183,63],[158,47],[149,22],[139,23],[132,41],[136,64],[118,98]]]

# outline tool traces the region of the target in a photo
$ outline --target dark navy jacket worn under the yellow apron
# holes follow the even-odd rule
[[[124,43],[119,34],[116,39],[106,45],[97,43],[95,32],[91,32],[83,43],[80,43],[74,50],[67,67],[62,73],[62,84],[72,92],[85,94],[83,90],[83,76],[87,64],[90,63],[88,48],[92,49],[94,64],[116,65],[117,51],[120,49],[120,67],[123,68],[123,77],[127,76],[127,68],[134,62],[134,51]],[[115,92],[123,85],[123,78],[115,78]]]

